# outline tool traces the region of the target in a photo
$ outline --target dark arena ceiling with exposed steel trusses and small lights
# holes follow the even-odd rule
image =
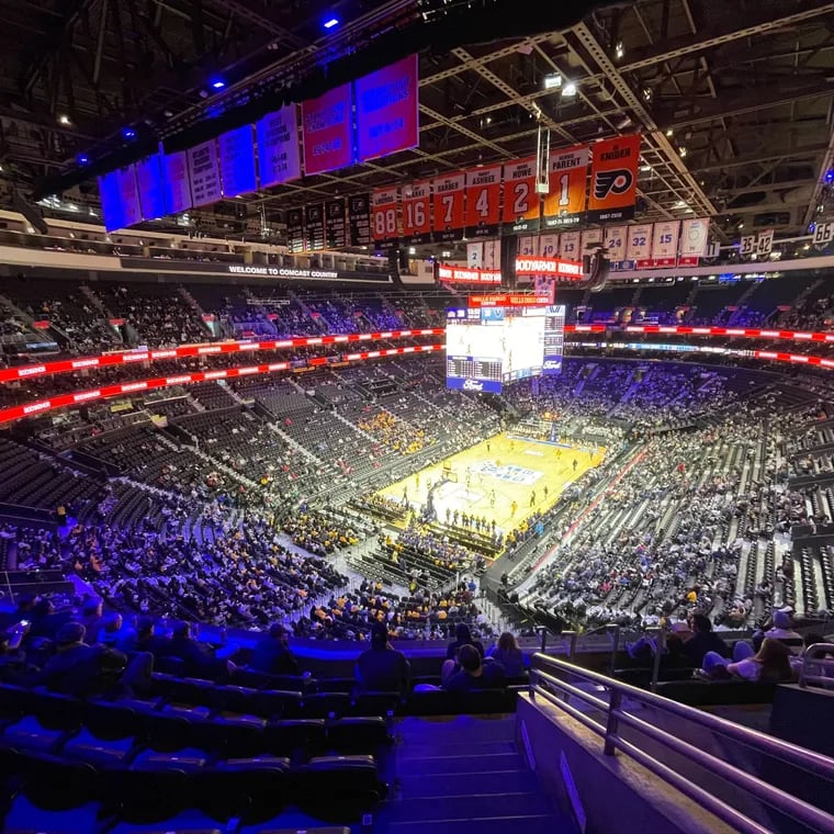
[[[362,32],[384,48],[391,31],[437,20],[446,5],[474,15],[495,1],[0,0],[0,176],[32,193],[45,178],[75,176],[80,153],[124,149],[125,126],[169,136],[253,83],[297,80],[337,44],[367,47]],[[834,2],[584,5],[561,31],[474,44],[464,33],[461,45],[425,49],[419,148],[258,193],[249,213],[277,226],[286,208],[335,193],[529,155],[540,122],[554,147],[642,132],[646,219],[711,215],[728,238],[741,223],[786,236],[829,211]],[[322,29],[326,14],[342,22],[337,34]],[[499,31],[518,31],[507,23]],[[556,72],[562,89],[544,89]],[[214,77],[227,82],[217,94]],[[566,82],[574,97],[562,94]],[[89,178],[69,193],[95,202]],[[236,203],[203,213],[204,227],[239,230]]]

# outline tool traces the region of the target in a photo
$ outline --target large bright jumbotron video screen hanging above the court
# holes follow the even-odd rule
[[[447,309],[450,388],[500,394],[505,384],[562,371],[565,307],[533,295],[472,296]]]

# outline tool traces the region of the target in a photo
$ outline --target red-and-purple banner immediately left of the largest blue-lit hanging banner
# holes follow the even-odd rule
[[[342,84],[301,105],[304,173],[335,171],[353,162],[351,86]]]

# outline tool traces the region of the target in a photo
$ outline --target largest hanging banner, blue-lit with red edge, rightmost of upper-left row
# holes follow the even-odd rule
[[[420,144],[417,68],[417,55],[409,55],[356,81],[360,162]]]

